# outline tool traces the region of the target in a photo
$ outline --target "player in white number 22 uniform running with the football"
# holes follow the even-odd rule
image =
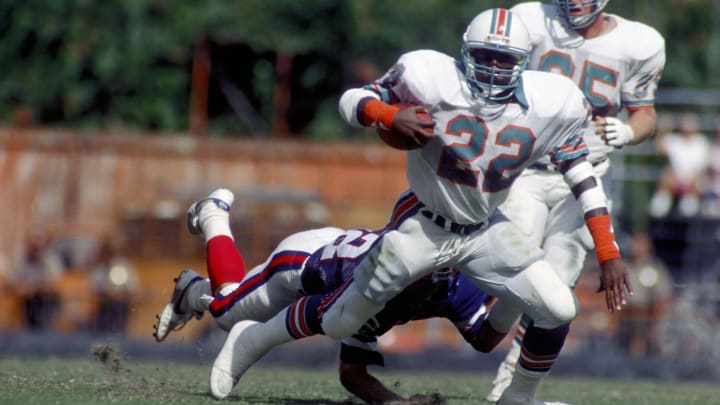
[[[462,60],[410,52],[378,81],[342,95],[340,113],[351,125],[429,138],[407,152],[411,189],[400,196],[353,277],[334,294],[304,297],[267,322],[247,321],[230,330],[210,375],[216,398],[227,396],[272,347],[318,333],[351,336],[412,282],[454,267],[498,297],[483,333],[501,339],[521,313],[532,319],[516,378],[500,403],[544,403],[535,392],[577,308],[540,247],[497,210],[525,168],[549,156],[578,198],[597,246],[610,311],[622,308],[631,287],[605,194],[586,160],[582,131],[589,125],[589,105],[571,80],[526,71],[529,50],[522,22],[509,10],[492,9],[468,26]],[[434,124],[417,116],[423,110]],[[428,125],[432,134],[425,132]],[[204,210],[197,215],[200,222],[212,220]]]

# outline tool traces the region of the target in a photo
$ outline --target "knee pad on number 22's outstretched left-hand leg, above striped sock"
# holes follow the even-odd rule
[[[333,339],[345,339],[357,333],[384,306],[365,297],[355,283],[351,283],[323,314],[322,330]]]

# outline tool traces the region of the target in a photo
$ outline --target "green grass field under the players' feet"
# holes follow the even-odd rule
[[[92,357],[92,358],[91,358]],[[668,365],[671,367],[671,365]],[[403,395],[439,392],[448,404],[482,404],[489,374],[378,369]],[[334,369],[251,369],[224,401],[208,395],[209,364],[128,361],[100,353],[85,359],[0,358],[0,404],[359,404]],[[540,398],[573,404],[720,404],[713,384],[610,381],[551,376]]]

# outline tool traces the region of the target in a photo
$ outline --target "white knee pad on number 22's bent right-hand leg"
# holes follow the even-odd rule
[[[529,313],[535,325],[552,329],[575,319],[578,308],[575,294],[546,261],[533,263],[525,272],[527,280],[535,290],[536,299],[539,299],[537,304],[540,304],[534,313]]]

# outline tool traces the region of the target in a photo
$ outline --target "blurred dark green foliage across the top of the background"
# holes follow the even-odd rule
[[[358,61],[381,74],[402,52],[457,54],[479,10],[517,1],[0,0],[0,121],[77,128],[184,131],[197,46],[209,43],[209,130],[267,132],[276,61],[289,55],[290,132],[342,136],[339,92]],[[667,40],[664,87],[719,87],[720,1],[613,1],[608,10]],[[224,73],[223,73],[224,72]],[[224,74],[224,76],[223,76]],[[233,106],[230,90],[249,108]],[[242,100],[241,100],[242,101]],[[257,132],[257,131],[256,131]]]

